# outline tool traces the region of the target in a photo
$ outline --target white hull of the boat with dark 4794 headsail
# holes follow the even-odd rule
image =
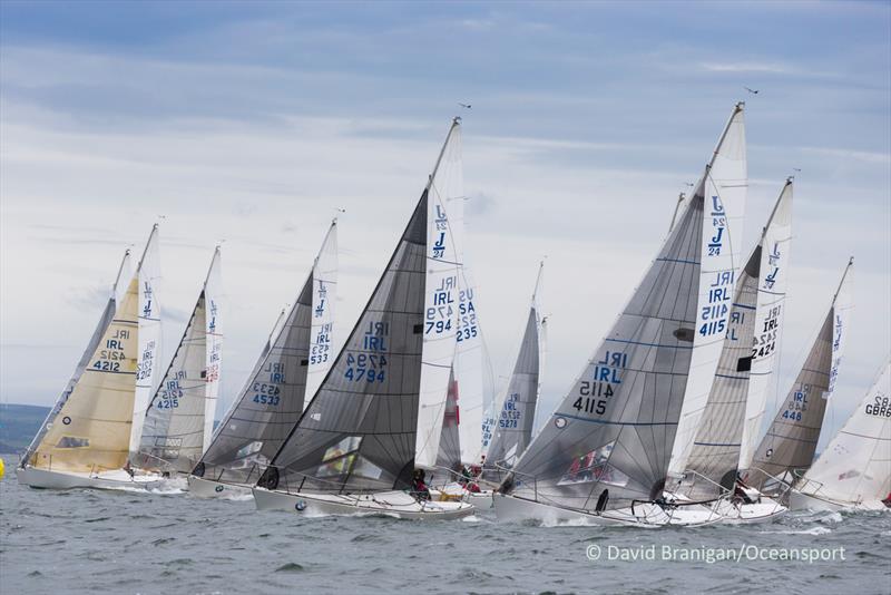
[[[386,515],[423,520],[452,520],[473,514],[467,503],[419,503],[404,491],[368,495],[287,494],[254,488],[257,510],[286,510],[303,516]]]

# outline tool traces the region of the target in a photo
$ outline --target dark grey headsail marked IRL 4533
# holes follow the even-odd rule
[[[272,461],[303,412],[310,357],[313,274],[272,336],[235,404],[193,471],[252,484]]]

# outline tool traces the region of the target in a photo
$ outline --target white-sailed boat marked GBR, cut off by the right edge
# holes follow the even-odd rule
[[[884,510],[891,492],[891,361],[790,494],[790,508]]]

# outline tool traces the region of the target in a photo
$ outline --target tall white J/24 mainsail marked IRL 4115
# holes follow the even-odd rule
[[[699,303],[708,304],[705,313],[707,318],[703,320],[722,330],[716,333],[696,333],[693,341],[691,373],[669,465],[669,472],[673,475],[681,475],[686,468],[724,348],[724,331],[728,323],[735,274],[743,264],[741,244],[748,187],[743,104],[734,107],[727,120],[708,165],[706,178],[714,186],[714,192],[706,195],[706,209],[714,213],[715,221],[719,220],[722,224],[715,225],[712,222],[706,230],[714,231],[714,235],[703,237],[704,254],[711,257],[704,260],[699,269]],[[717,203],[713,203],[714,196],[719,197],[721,208]],[[715,299],[717,294],[722,299]]]

